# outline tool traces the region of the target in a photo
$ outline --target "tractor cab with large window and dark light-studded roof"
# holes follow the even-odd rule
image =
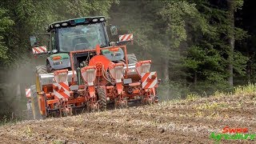
[[[50,24],[51,48],[55,53],[91,50],[96,45],[110,46],[105,17],[76,18]]]

